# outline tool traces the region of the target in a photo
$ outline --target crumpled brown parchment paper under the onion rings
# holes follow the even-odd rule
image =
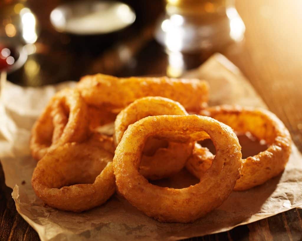
[[[222,55],[212,56],[187,76],[210,83],[210,105],[266,108],[240,71]],[[80,214],[43,205],[31,187],[36,161],[29,152],[30,129],[55,91],[73,84],[24,88],[7,83],[1,96],[0,158],[6,185],[13,188],[18,212],[37,230],[41,240],[178,240],[230,230],[302,208],[302,158],[295,146],[283,174],[248,191],[232,192],[220,208],[191,224],[160,223],[116,195],[101,207]]]

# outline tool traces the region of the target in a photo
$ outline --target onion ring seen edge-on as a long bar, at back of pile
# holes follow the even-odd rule
[[[81,78],[77,88],[88,104],[104,104],[116,111],[145,96],[166,97],[178,101],[188,111],[198,111],[205,107],[209,96],[209,87],[205,81],[168,77],[86,75]]]

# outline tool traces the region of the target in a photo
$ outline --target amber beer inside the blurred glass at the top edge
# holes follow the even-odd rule
[[[169,14],[213,14],[225,11],[230,0],[166,0]]]

